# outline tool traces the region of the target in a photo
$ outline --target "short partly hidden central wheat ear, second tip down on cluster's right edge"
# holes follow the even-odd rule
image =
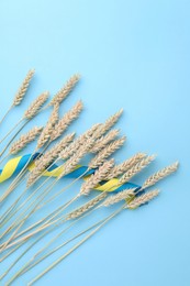
[[[98,139],[96,141],[94,146],[92,147],[92,150],[90,152],[97,153],[100,150],[102,150],[103,147],[105,147],[108,143],[110,143],[112,140],[114,140],[118,136],[119,132],[120,132],[120,130],[118,130],[118,129],[111,130],[108,134]]]

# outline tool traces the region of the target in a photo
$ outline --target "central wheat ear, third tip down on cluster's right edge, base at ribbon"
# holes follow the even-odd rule
[[[102,148],[89,163],[89,168],[97,168],[103,164],[104,160],[120,148],[125,142],[125,136],[118,139]]]

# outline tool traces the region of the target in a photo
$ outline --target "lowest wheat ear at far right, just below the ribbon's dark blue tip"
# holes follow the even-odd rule
[[[159,195],[158,189],[145,193],[145,194],[141,195],[139,197],[136,197],[133,201],[128,202],[126,208],[127,209],[136,209],[139,206],[150,201],[152,199],[154,199],[158,195]]]

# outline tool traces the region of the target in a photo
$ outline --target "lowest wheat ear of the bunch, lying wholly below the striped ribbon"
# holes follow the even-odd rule
[[[90,201],[88,201],[87,204],[81,206],[80,208],[78,208],[78,209],[74,210],[72,212],[70,212],[67,216],[66,220],[76,219],[76,218],[82,216],[85,212],[87,212],[88,210],[90,210],[94,206],[97,206],[105,197],[107,197],[107,193],[102,191],[99,196],[94,197],[93,199],[91,199]]]

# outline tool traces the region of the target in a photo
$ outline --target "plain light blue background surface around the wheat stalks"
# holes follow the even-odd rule
[[[80,133],[124,108],[118,127],[127,144],[118,162],[137,151],[158,154],[135,182],[176,160],[181,164],[159,184],[157,200],[123,212],[36,285],[190,285],[189,31],[186,0],[0,2],[1,113],[25,73],[36,69],[26,100],[1,134],[38,92],[55,94],[79,72],[82,79],[64,109],[82,99],[85,111],[70,130]],[[40,117],[36,124],[45,121]],[[14,285],[26,285],[40,270]]]

